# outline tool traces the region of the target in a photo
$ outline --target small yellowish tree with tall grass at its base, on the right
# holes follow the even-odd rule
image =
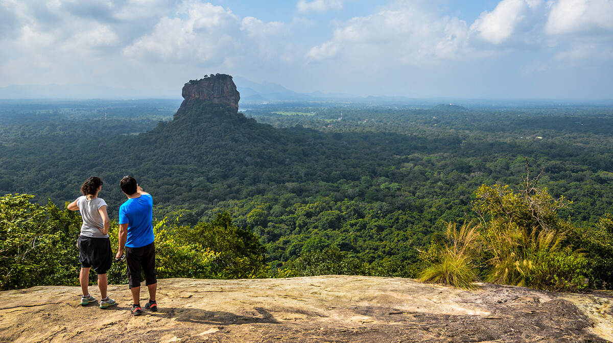
[[[486,280],[547,290],[582,289],[586,261],[563,244],[576,228],[557,216],[570,202],[538,188],[541,174],[530,178],[528,160],[526,165],[519,192],[498,184],[484,184],[475,192],[473,208],[484,224],[489,257]]]

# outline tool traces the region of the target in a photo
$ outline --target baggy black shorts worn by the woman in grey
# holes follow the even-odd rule
[[[78,262],[81,268],[94,268],[96,274],[106,274],[113,263],[109,238],[78,236]]]

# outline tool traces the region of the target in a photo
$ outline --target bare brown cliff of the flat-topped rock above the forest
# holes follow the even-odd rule
[[[226,74],[211,74],[201,78],[200,80],[191,80],[183,86],[181,92],[183,103],[177,111],[177,114],[183,113],[186,107],[189,107],[194,100],[215,102],[216,104],[229,105],[232,110],[238,112],[238,100],[240,94],[236,90],[236,85],[232,81],[232,77]]]

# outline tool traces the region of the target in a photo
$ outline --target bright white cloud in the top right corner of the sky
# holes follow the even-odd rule
[[[551,35],[613,32],[613,1],[559,0],[552,2],[546,31]]]

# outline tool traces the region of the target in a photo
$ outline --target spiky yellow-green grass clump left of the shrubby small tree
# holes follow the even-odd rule
[[[423,282],[453,285],[460,288],[476,288],[474,281],[478,273],[474,261],[475,252],[480,251],[479,228],[473,222],[464,222],[457,228],[455,222],[447,222],[444,243],[432,243],[420,258],[426,267],[419,275]]]

